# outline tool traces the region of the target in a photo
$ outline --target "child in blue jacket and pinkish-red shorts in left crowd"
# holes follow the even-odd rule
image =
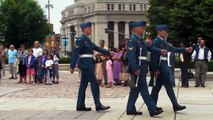
[[[34,84],[36,58],[33,55],[32,49],[29,50],[29,54],[26,57],[25,64],[27,65],[27,76],[29,78],[29,84]],[[33,80],[31,80],[31,78],[33,78]]]

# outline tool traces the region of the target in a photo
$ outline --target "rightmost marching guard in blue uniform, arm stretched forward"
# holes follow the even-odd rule
[[[153,47],[157,47],[159,49],[166,49],[167,51],[173,51],[173,52],[186,52],[186,51],[191,52],[192,51],[191,47],[175,48],[166,42],[166,39],[168,36],[167,25],[157,25],[155,29],[157,31],[157,37],[153,41],[153,44],[152,44]],[[171,77],[170,77],[171,71],[168,67],[167,55],[161,55],[157,52],[152,52],[151,61],[152,61],[153,70],[155,72],[155,78],[156,78],[155,85],[151,92],[151,96],[153,97],[155,103],[157,104],[158,93],[162,85],[164,85],[166,88],[166,92],[172,102],[173,110],[179,111],[179,110],[185,109],[186,108],[185,106],[181,106],[178,104],[175,93],[173,91]]]

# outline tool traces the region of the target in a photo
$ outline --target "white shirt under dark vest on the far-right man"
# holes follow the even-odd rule
[[[197,59],[204,60],[204,50],[205,50],[205,47],[204,48],[199,47],[199,53],[198,53]],[[194,50],[193,53],[192,53],[192,61],[195,60],[196,54],[197,54],[197,52],[196,52],[196,50]],[[211,57],[212,57],[212,53],[209,50],[208,56],[207,56],[207,59],[208,59],[209,62],[211,60]]]

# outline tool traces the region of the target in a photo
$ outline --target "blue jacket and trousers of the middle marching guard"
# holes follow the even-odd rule
[[[142,49],[142,51],[141,51]],[[128,66],[129,66],[129,73],[134,74],[136,70],[140,70],[140,77],[138,79],[138,86],[131,87],[130,93],[129,93],[129,99],[127,103],[127,112],[135,112],[135,102],[138,98],[138,94],[140,93],[144,99],[145,104],[148,107],[148,110],[154,111],[156,110],[156,105],[151,98],[147,83],[146,83],[146,73],[147,73],[147,51],[151,52],[157,52],[160,53],[161,50],[154,48],[152,46],[148,46],[144,40],[141,39],[136,34],[133,34],[131,37],[131,40],[128,42],[128,53],[127,53],[127,59],[128,59]],[[140,58],[140,60],[139,60]]]

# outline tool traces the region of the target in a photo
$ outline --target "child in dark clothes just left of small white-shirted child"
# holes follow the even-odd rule
[[[38,70],[38,83],[42,83],[42,79],[45,75],[45,63],[47,61],[47,55],[48,55],[48,50],[44,49],[43,50],[43,55],[40,59],[40,66],[39,66],[39,70]],[[46,81],[46,80],[45,80]]]

